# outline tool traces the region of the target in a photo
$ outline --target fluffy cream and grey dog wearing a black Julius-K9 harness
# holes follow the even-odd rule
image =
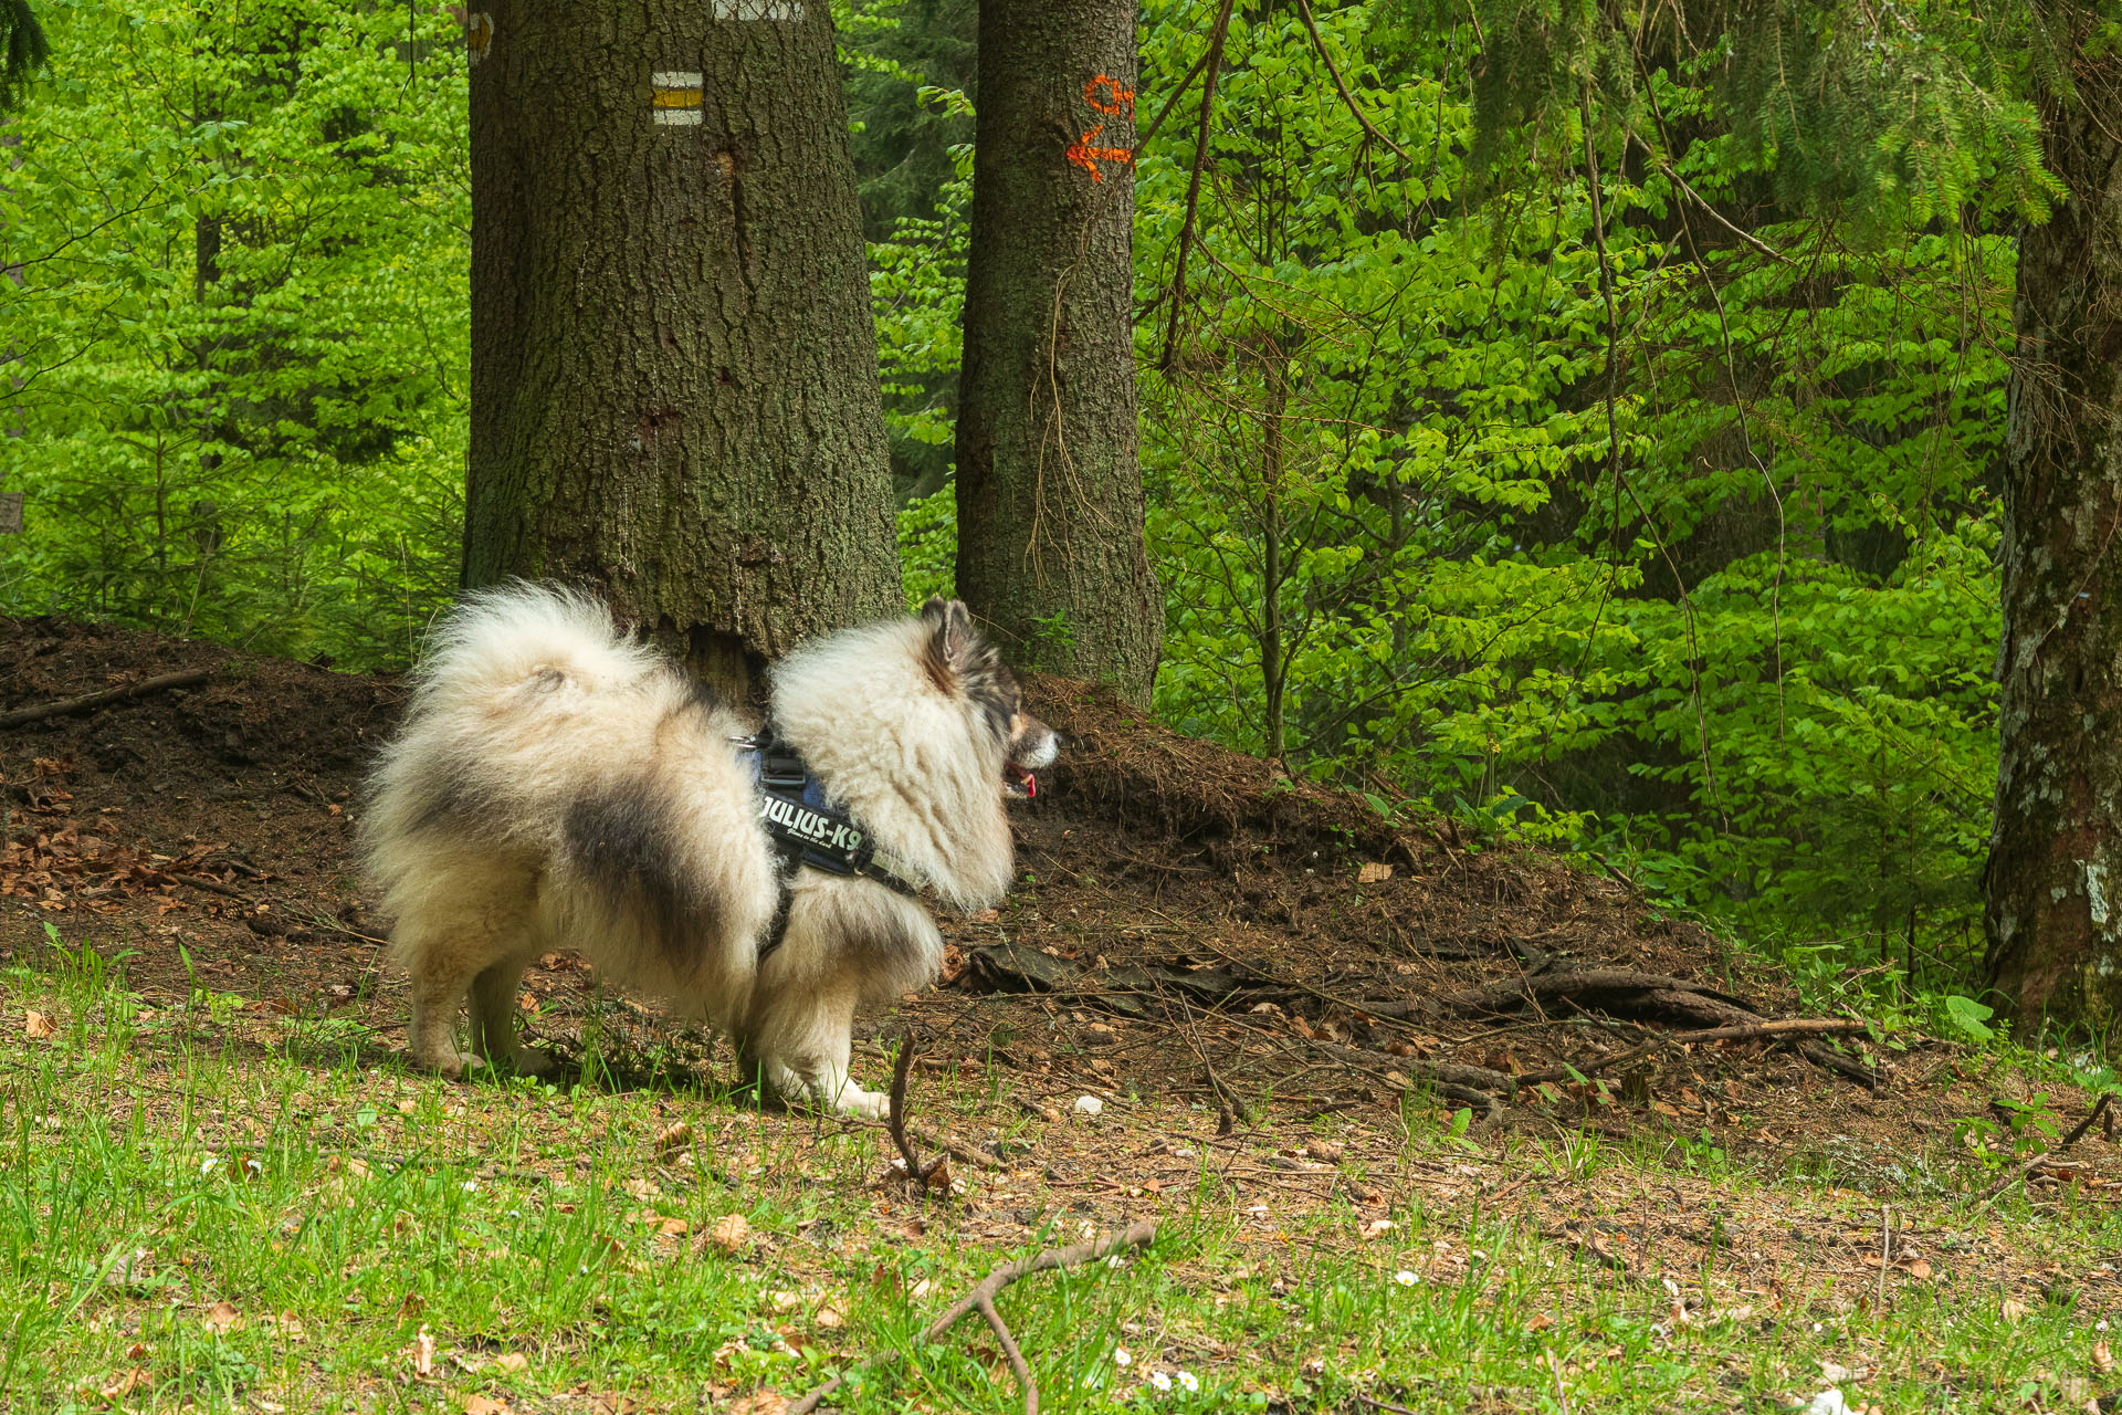
[[[881,1116],[847,1071],[855,1008],[925,986],[942,940],[910,891],[798,868],[762,823],[751,728],[594,600],[514,586],[437,630],[363,821],[412,974],[410,1052],[539,1071],[516,1037],[524,965],[575,948],[707,1016],[768,1093]],[[770,675],[770,730],[902,885],[957,910],[1012,874],[1004,800],[1055,757],[957,600],[828,634]],[[764,957],[762,957],[764,953]]]

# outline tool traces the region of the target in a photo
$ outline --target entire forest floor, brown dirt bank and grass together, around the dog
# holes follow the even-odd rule
[[[876,1349],[836,1402],[1019,1409],[921,1324],[1144,1218],[1004,1296],[1044,1409],[2122,1396],[2065,1069],[1838,1018],[1621,880],[1038,683],[1076,745],[1021,887],[857,1042],[881,1086],[919,1035],[910,1194],[571,957],[522,995],[558,1084],[407,1069],[348,857],[401,683],[0,619],[0,715],[187,670],[0,726],[8,1409],[768,1413]]]

